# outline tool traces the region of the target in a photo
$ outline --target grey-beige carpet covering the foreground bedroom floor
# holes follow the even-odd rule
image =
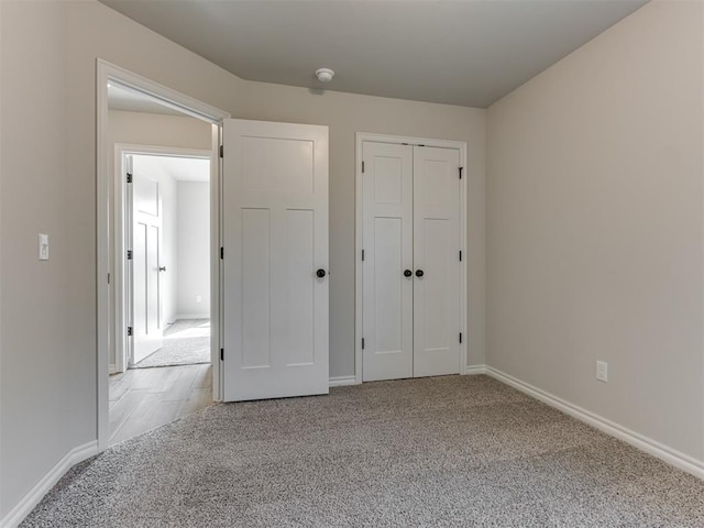
[[[211,406],[69,472],[30,527],[702,527],[704,482],[486,376]]]

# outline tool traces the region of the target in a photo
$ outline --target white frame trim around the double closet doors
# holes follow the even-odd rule
[[[372,134],[366,132],[356,133],[356,168],[355,168],[355,252],[354,252],[354,377],[356,383],[362,383],[362,321],[363,321],[363,304],[362,304],[362,249],[363,249],[363,227],[364,218],[364,195],[362,189],[362,143],[365,141],[374,141],[377,143],[425,145],[438,148],[457,148],[460,151],[460,166],[464,167],[462,179],[460,179],[460,240],[462,241],[462,262],[460,262],[460,332],[463,339],[460,343],[459,366],[460,374],[466,374],[466,343],[469,337],[466,334],[466,263],[469,261],[469,244],[466,240],[466,142],[449,141],[449,140],[431,140],[427,138],[409,138],[405,135],[387,135]]]

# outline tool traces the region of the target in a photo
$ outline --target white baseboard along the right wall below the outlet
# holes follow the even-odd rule
[[[538,387],[534,387],[520,380],[510,376],[504,372],[497,371],[491,366],[486,367],[486,374],[498,380],[506,385],[510,385],[514,388],[517,388],[521,393],[527,394],[536,399],[539,399],[543,404],[549,405],[550,407],[554,407],[556,409],[561,410],[562,413],[570,415],[573,418],[576,418],[580,421],[588,424],[592,427],[609,435],[612,437],[618,438],[626,443],[631,444],[632,447],[645,451],[648,454],[657,457],[658,459],[667,462],[670,465],[674,465],[675,468],[685,471],[698,479],[704,480],[704,462],[696,460],[689,454],[684,454],[680,451],[671,449],[656,440],[652,440],[648,437],[645,437],[636,431],[631,431],[630,429],[623,427],[614,421],[610,421],[602,416],[598,416],[592,411],[583,409],[576,405],[573,405],[564,399],[561,399],[550,393],[547,393]]]

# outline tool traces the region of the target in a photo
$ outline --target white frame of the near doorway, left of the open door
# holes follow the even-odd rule
[[[109,370],[110,351],[114,350],[116,336],[112,329],[119,328],[114,323],[119,312],[118,296],[113,289],[111,277],[116,276],[117,256],[111,258],[111,249],[116,246],[118,219],[111,221],[110,215],[116,205],[117,185],[113,170],[110,167],[110,151],[108,143],[108,82],[116,82],[142,94],[160,99],[164,105],[197,119],[212,123],[212,152],[210,166],[210,317],[212,359],[212,391],[213,399],[220,400],[221,369],[220,343],[221,336],[221,299],[220,299],[220,186],[221,161],[219,145],[221,144],[222,120],[230,117],[216,107],[201,102],[193,97],[180,94],[166,86],[154,82],[145,77],[133,74],[120,66],[110,64],[101,58],[96,61],[96,260],[97,260],[97,419],[98,449],[103,451],[109,447]],[[118,173],[119,174],[119,173]],[[119,178],[121,179],[121,178]],[[118,209],[116,209],[117,213]],[[121,308],[120,308],[121,309]]]

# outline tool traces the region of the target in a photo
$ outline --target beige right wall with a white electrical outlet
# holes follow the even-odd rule
[[[488,364],[698,460],[702,34],[652,2],[492,106],[486,205]]]

